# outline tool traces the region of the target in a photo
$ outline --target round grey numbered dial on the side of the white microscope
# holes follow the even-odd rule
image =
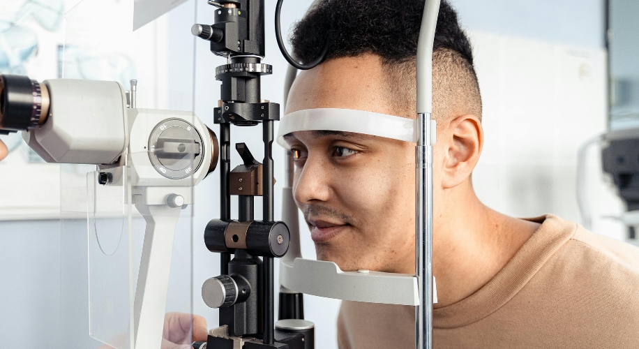
[[[195,126],[182,119],[166,119],[151,132],[149,158],[153,168],[164,177],[186,178],[202,165],[202,144]]]

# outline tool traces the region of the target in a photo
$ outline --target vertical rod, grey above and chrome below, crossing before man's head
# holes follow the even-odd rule
[[[439,0],[426,0],[417,43],[417,147],[416,147],[416,275],[419,306],[416,348],[433,348],[433,44]]]

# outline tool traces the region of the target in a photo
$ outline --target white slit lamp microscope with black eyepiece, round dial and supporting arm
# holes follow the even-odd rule
[[[156,349],[176,224],[193,204],[193,186],[216,168],[218,144],[193,112],[135,108],[136,84],[125,91],[118,82],[0,75],[0,127],[23,131],[47,162],[97,165],[89,176],[95,186],[129,186],[129,203],[144,217],[146,231],[133,319],[120,319],[133,322],[133,333],[121,345]]]

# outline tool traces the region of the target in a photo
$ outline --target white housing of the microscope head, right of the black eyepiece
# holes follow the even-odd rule
[[[126,95],[118,82],[45,80],[47,122],[22,138],[50,163],[114,163],[126,149]]]

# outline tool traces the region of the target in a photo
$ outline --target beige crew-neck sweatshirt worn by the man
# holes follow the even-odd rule
[[[548,215],[486,285],[433,312],[433,347],[639,349],[639,248]],[[412,306],[342,303],[340,349],[415,348]]]

